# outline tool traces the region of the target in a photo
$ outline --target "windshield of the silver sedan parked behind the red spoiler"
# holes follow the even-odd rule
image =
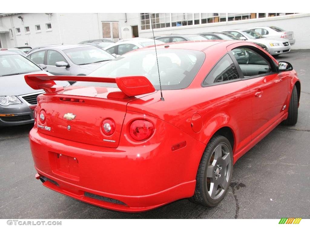
[[[63,50],[63,52],[76,65],[98,63],[115,58],[110,53],[94,46],[71,48]]]

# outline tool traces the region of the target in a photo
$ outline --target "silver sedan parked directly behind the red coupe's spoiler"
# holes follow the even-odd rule
[[[42,48],[27,58],[54,75],[87,75],[115,57],[98,47],[78,44]]]

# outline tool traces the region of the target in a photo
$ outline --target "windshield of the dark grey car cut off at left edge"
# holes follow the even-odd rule
[[[41,69],[21,55],[0,55],[0,76],[37,71],[41,71]]]

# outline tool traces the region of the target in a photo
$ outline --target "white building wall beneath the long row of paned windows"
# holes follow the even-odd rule
[[[179,26],[154,29],[154,35],[163,34],[197,34],[217,32],[228,29],[246,29],[255,26],[277,26],[284,30],[294,31],[296,39],[292,49],[310,49],[310,14],[283,15],[269,18],[246,19],[210,24]],[[139,22],[140,29],[140,22]],[[140,30],[139,37],[153,37],[152,30]]]

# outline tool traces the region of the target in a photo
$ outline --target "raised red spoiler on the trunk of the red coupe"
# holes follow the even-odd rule
[[[109,78],[90,76],[50,76],[47,74],[25,75],[25,81],[31,88],[43,89],[47,93],[58,92],[64,89],[64,87],[56,85],[55,81],[57,80],[116,83],[118,88],[129,97],[155,91],[152,83],[144,76],[124,76]]]

